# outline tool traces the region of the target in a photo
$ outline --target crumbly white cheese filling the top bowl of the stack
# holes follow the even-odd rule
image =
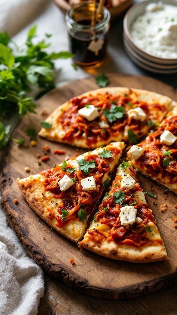
[[[130,36],[140,49],[160,58],[177,58],[177,6],[149,3],[130,28]]]

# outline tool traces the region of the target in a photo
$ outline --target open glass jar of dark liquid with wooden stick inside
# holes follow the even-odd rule
[[[98,3],[83,1],[66,14],[69,50],[79,66],[100,66],[106,56],[110,13],[103,7],[96,21]]]

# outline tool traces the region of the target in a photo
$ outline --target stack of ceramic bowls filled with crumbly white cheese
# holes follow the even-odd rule
[[[151,72],[155,72],[155,73],[171,74],[171,73],[177,72],[177,14],[174,13],[174,18],[170,17],[168,14],[167,16],[164,15],[164,19],[166,19],[165,23],[163,24],[162,27],[159,24],[159,28],[157,31],[156,38],[160,38],[162,40],[164,40],[165,38],[167,44],[169,45],[167,46],[167,49],[169,48],[169,57],[167,57],[168,54],[167,54],[167,51],[165,51],[166,46],[164,45],[162,46],[160,41],[159,43],[158,41],[157,43],[155,43],[155,46],[157,48],[156,52],[153,51],[153,49],[151,49],[150,46],[146,47],[146,45],[144,45],[146,49],[142,49],[143,45],[141,45],[141,38],[142,38],[142,43],[146,43],[146,35],[148,34],[148,25],[146,26],[146,33],[144,34],[144,36],[142,33],[142,29],[144,29],[144,24],[146,23],[146,20],[143,21],[144,24],[140,24],[142,25],[142,29],[138,30],[137,27],[136,28],[133,27],[134,21],[135,20],[137,21],[139,17],[140,17],[139,21],[141,22],[142,20],[141,17],[143,16],[143,14],[145,14],[145,11],[149,11],[147,12],[147,14],[150,14],[152,12],[152,14],[154,15],[156,14],[157,11],[160,12],[161,10],[163,10],[163,4],[164,5],[169,4],[170,6],[173,5],[175,6],[174,9],[177,10],[176,0],[164,0],[163,2],[159,2],[159,0],[154,0],[154,1],[147,0],[147,1],[135,4],[134,6],[132,6],[127,11],[123,20],[123,44],[124,44],[124,48],[128,56],[134,61],[135,64],[137,64],[141,68],[151,71]],[[147,19],[147,22],[149,24],[150,22],[153,23],[153,21],[151,21],[150,19],[149,20]],[[157,21],[155,24],[158,25]],[[155,29],[156,27],[157,26],[154,26],[154,32],[156,31]],[[140,33],[140,36],[138,35],[139,38],[137,37],[138,40],[134,39],[136,38],[134,29],[136,30],[137,33]],[[163,29],[164,31],[160,33],[160,31],[162,31]],[[134,37],[134,34],[135,34],[135,37]],[[161,36],[161,34],[163,36]],[[152,41],[154,41],[155,34],[153,34],[153,32],[152,34],[148,34],[148,36],[150,39],[147,38],[147,43],[150,43],[151,38],[152,38]],[[159,51],[158,51],[158,44],[159,44]],[[174,47],[176,48],[174,49]],[[170,50],[173,52],[170,53]]]

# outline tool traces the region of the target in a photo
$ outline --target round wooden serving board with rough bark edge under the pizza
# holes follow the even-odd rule
[[[123,74],[107,74],[109,86],[126,86],[147,89],[177,100],[177,92],[170,86],[149,77],[139,77]],[[41,116],[45,109],[49,115],[53,110],[71,97],[88,90],[97,89],[95,78],[76,80],[51,91],[38,100],[37,112],[31,115],[32,122],[40,130],[40,121],[47,116]],[[30,128],[28,117],[23,117],[13,133],[15,138],[27,138],[26,129]],[[37,153],[44,155],[44,145],[50,147],[50,159],[39,165]],[[54,149],[64,149],[65,155],[54,155]],[[78,151],[76,151],[78,150]],[[1,188],[3,206],[10,226],[16,232],[28,254],[50,275],[64,281],[73,288],[96,297],[108,299],[123,299],[140,297],[152,293],[177,281],[177,230],[174,228],[173,216],[177,215],[174,205],[177,196],[171,192],[163,193],[163,187],[156,182],[138,174],[144,191],[153,187],[157,199],[146,195],[147,202],[153,210],[159,231],[168,252],[168,261],[135,264],[124,261],[114,261],[96,255],[87,250],[80,250],[59,233],[43,222],[28,206],[16,184],[16,178],[24,178],[29,174],[53,167],[64,160],[66,156],[73,157],[75,153],[83,153],[83,149],[50,142],[37,138],[37,146],[32,147],[30,140],[18,146],[10,142],[4,154]],[[25,172],[29,167],[30,172]],[[18,203],[13,202],[14,198]],[[156,203],[156,204],[154,204]],[[165,212],[160,211],[160,205],[167,203]],[[45,238],[45,239],[43,239]],[[73,258],[75,264],[70,263]]]

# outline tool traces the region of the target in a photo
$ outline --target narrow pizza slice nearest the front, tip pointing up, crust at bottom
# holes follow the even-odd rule
[[[130,262],[167,260],[156,221],[133,167],[124,162],[94,216],[80,248]]]

